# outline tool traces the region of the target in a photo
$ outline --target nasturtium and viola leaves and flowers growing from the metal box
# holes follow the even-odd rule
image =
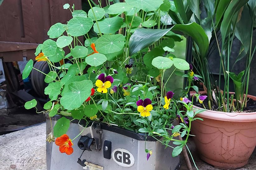
[[[193,100],[187,99],[187,93],[174,96],[166,84],[171,83],[175,71],[190,70],[186,74],[189,89],[195,74],[185,60],[173,55],[174,42],[181,38],[170,31],[178,28],[166,29],[165,14],[171,2],[150,1],[150,6],[147,0],[139,2],[127,0],[100,8],[92,7],[88,0],[88,14],[65,4],[64,9],[69,9],[73,18],[67,24],[52,25],[48,31],[51,39],[35,52],[36,60],[47,62],[50,72],[33,67],[33,60],[27,62],[22,78],[35,69],[45,75],[48,83],[45,95],[49,101],[38,113],[48,114],[50,119],[62,116],[47,138],[51,142],[57,137],[55,143],[61,153],[72,154],[72,141],[80,136],[69,139],[66,135],[74,119],[85,120],[85,128],[90,121],[97,121],[145,133],[167,147],[172,147],[169,142],[173,142],[178,145],[173,157],[186,146],[191,122],[198,119],[195,115],[201,110],[193,112]],[[97,36],[90,37],[89,31]],[[169,73],[169,69],[174,71]],[[36,104],[36,100],[28,101],[25,108]],[[181,110],[184,107],[186,111]],[[181,123],[175,124],[177,119]],[[145,159],[149,159],[155,151],[145,148],[145,152]]]

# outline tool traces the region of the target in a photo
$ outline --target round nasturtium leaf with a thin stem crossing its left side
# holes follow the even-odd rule
[[[105,19],[98,21],[99,28],[101,30],[101,33],[103,33],[103,34],[115,33],[116,31],[118,31],[121,28],[123,23],[124,23],[123,19],[119,16],[115,16],[113,18],[105,18]],[[96,33],[99,33],[96,23],[93,25],[93,30]]]

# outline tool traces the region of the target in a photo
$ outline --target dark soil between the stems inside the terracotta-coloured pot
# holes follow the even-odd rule
[[[203,104],[205,105],[206,109],[209,108],[207,100],[204,100]],[[194,105],[203,108],[203,105],[200,104],[199,102],[195,102]],[[236,105],[236,103],[235,103],[235,105]],[[214,103],[213,110],[219,111],[217,109],[218,109],[218,105],[216,105]],[[241,112],[241,111],[236,111],[236,113],[239,113],[239,112]],[[250,112],[256,112],[256,101],[254,101],[253,99],[249,99],[247,101],[247,106],[244,108],[244,110],[241,113],[250,113]]]

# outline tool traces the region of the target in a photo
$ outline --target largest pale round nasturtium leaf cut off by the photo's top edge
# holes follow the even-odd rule
[[[164,2],[163,0],[126,0],[126,3],[148,12],[156,11]]]

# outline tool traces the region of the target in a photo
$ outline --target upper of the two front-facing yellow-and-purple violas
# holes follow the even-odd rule
[[[95,85],[98,87],[97,91],[100,93],[107,93],[107,89],[111,87],[111,83],[113,83],[114,79],[111,76],[106,76],[105,74],[100,74],[98,80]]]

